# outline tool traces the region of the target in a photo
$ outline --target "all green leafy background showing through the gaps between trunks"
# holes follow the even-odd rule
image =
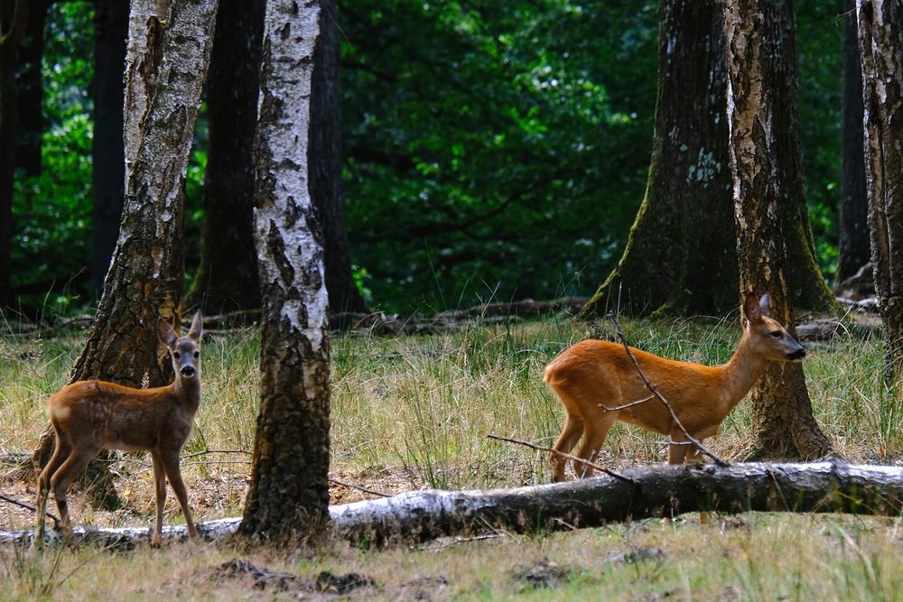
[[[840,190],[841,4],[796,3],[803,160],[828,275]],[[342,5],[358,289],[399,311],[591,292],[619,258],[646,184],[657,5]],[[92,17],[91,3],[73,2],[54,3],[48,18],[44,171],[17,178],[14,198],[14,284],[34,292],[32,306],[90,295]],[[185,184],[187,282],[200,255],[207,144],[202,108]]]

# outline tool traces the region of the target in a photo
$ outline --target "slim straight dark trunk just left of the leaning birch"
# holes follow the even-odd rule
[[[123,74],[126,69],[128,0],[97,0],[94,10],[94,137],[91,141],[93,246],[91,281],[103,291],[126,195],[123,150]]]

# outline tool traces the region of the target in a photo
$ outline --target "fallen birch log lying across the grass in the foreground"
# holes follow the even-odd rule
[[[600,526],[691,512],[903,512],[903,467],[815,464],[642,466],[628,480],[600,477],[554,485],[489,491],[411,491],[333,505],[337,535],[361,545],[426,542],[493,531],[536,533]],[[198,524],[205,539],[234,533],[241,519]],[[31,542],[33,532],[2,532],[0,542]],[[75,529],[77,542],[131,547],[150,541],[149,529]],[[164,528],[164,540],[187,540],[184,526]]]

